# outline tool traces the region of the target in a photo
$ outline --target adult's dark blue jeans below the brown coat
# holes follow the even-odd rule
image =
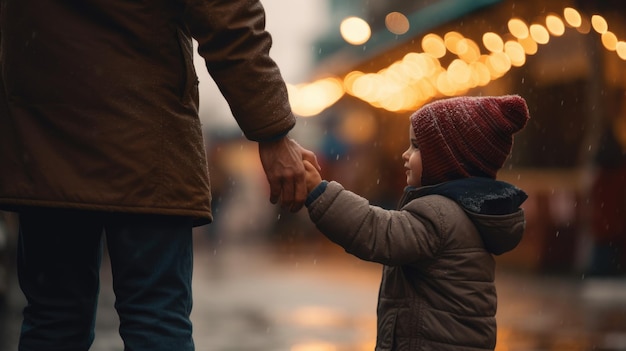
[[[103,233],[124,350],[194,350],[192,220],[30,209],[20,213],[20,351],[83,351],[94,340]]]

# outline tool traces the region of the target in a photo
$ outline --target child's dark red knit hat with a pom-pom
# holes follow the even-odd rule
[[[429,103],[411,125],[422,156],[422,185],[496,177],[511,152],[513,134],[530,118],[518,95],[455,97]]]

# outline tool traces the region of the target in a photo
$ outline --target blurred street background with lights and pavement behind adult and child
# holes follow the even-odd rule
[[[408,116],[458,95],[519,94],[531,120],[499,179],[529,194],[499,264],[497,350],[626,350],[626,9],[618,0],[264,0],[291,136],[326,179],[395,208]],[[199,350],[372,350],[380,266],[284,213],[197,57],[215,222],[197,228]],[[0,350],[23,298],[15,216],[0,220]],[[94,350],[122,350],[103,264]],[[3,343],[6,346],[3,346]],[[2,348],[4,347],[4,348]]]

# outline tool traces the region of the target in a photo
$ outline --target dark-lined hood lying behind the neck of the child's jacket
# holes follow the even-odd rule
[[[525,228],[521,189],[490,178],[464,178],[433,186],[407,188],[401,206],[427,195],[441,195],[461,206],[480,232],[485,248],[496,255],[514,249]]]

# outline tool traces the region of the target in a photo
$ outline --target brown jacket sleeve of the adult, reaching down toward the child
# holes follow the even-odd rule
[[[245,136],[285,135],[295,125],[287,87],[269,56],[272,38],[258,0],[184,0],[185,22],[198,53]]]

